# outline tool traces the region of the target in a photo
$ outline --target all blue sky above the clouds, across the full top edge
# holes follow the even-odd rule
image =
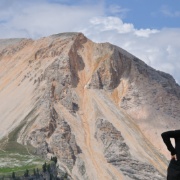
[[[103,16],[121,18],[132,23],[135,28],[179,28],[179,0],[1,0],[0,10],[23,10],[36,4],[66,5],[67,7],[93,7],[103,9]],[[0,24],[6,22],[7,16],[0,16]]]

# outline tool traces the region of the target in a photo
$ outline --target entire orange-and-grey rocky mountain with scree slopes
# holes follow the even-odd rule
[[[119,47],[81,33],[0,40],[0,100],[0,138],[21,127],[18,143],[72,179],[165,179],[160,134],[180,126],[180,87]]]

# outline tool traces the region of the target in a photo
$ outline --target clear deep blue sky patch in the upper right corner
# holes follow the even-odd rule
[[[106,1],[106,7],[111,6],[112,2],[114,6],[128,10],[123,19],[136,28],[180,26],[179,0],[113,0]]]

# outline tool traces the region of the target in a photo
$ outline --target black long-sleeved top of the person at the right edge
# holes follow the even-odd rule
[[[180,160],[180,130],[167,131],[162,133],[161,136],[171,155],[176,154],[177,159]],[[175,139],[175,148],[172,146],[170,138]]]

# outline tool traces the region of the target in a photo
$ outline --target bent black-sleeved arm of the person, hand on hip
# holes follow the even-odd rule
[[[167,146],[167,149],[171,152],[171,155],[174,156],[176,154],[176,150],[171,144],[170,138],[180,138],[180,130],[176,131],[167,131],[161,134],[164,143]]]

